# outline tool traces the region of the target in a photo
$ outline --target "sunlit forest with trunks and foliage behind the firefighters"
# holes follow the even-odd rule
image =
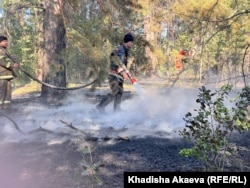
[[[248,0],[1,0],[0,34],[22,68],[58,87],[106,79],[109,55],[135,37],[129,69],[167,86],[249,80]],[[180,52],[185,52],[180,54]],[[181,60],[181,66],[177,65]],[[16,85],[33,80],[19,70]],[[248,79],[248,80],[247,80]],[[35,82],[36,83],[36,82]],[[42,97],[63,90],[37,85]]]

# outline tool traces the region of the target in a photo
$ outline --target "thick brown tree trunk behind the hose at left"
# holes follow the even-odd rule
[[[61,52],[66,47],[65,25],[62,15],[62,0],[44,0],[44,48],[43,81],[51,85],[66,87],[66,69]],[[42,86],[41,96],[55,99],[64,97],[64,90]]]

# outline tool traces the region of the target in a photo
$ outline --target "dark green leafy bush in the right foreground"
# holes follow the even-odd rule
[[[180,135],[192,148],[184,148],[180,155],[195,157],[204,162],[205,169],[223,171],[228,154],[234,154],[235,148],[230,144],[234,131],[243,133],[250,129],[250,90],[243,88],[233,102],[233,107],[227,105],[227,97],[232,92],[232,85],[224,85],[218,91],[212,92],[201,87],[196,102],[197,114],[188,112],[184,118],[185,128]],[[232,101],[231,101],[232,102]]]

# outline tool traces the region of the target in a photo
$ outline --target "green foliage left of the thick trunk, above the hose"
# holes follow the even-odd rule
[[[4,0],[2,4],[4,35],[9,38],[9,51],[32,75],[36,75],[38,68],[37,50],[40,47],[38,25],[38,0]],[[30,78],[19,71],[19,79],[15,82],[30,82]]]

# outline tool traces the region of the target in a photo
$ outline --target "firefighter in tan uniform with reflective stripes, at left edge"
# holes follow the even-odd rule
[[[7,55],[8,39],[0,36],[0,109],[9,109],[11,104],[11,81],[16,77],[15,69],[20,66]]]

